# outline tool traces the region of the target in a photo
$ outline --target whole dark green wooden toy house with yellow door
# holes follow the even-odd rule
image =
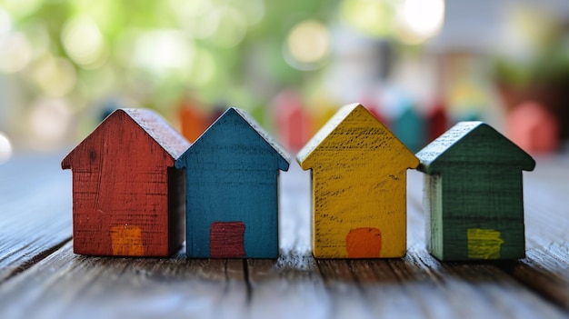
[[[525,256],[522,171],[534,159],[482,122],[461,122],[417,157],[427,249],[444,261]],[[485,251],[485,253],[484,253]]]

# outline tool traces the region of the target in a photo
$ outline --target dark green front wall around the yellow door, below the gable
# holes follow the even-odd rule
[[[470,167],[443,179],[444,260],[469,259],[469,229],[498,232],[501,259],[524,257],[521,172]]]

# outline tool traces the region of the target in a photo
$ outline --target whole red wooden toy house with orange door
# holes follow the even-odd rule
[[[165,256],[184,240],[189,143],[155,112],[119,109],[65,157],[75,254]]]

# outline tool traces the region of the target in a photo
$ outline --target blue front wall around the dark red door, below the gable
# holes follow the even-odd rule
[[[279,249],[278,171],[262,161],[259,164],[238,160],[228,162],[224,165],[192,162],[186,167],[186,172],[193,172],[186,184],[189,190],[187,254],[209,257],[211,224],[243,222],[245,254],[255,258],[276,258]]]

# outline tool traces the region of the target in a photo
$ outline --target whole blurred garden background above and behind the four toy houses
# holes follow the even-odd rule
[[[291,104],[307,135],[360,102],[403,136],[437,107],[501,129],[531,100],[563,140],[568,22],[556,0],[0,0],[0,157],[69,149],[115,107],[179,128],[181,105],[241,107],[286,140]],[[424,121],[397,126],[405,109]]]

